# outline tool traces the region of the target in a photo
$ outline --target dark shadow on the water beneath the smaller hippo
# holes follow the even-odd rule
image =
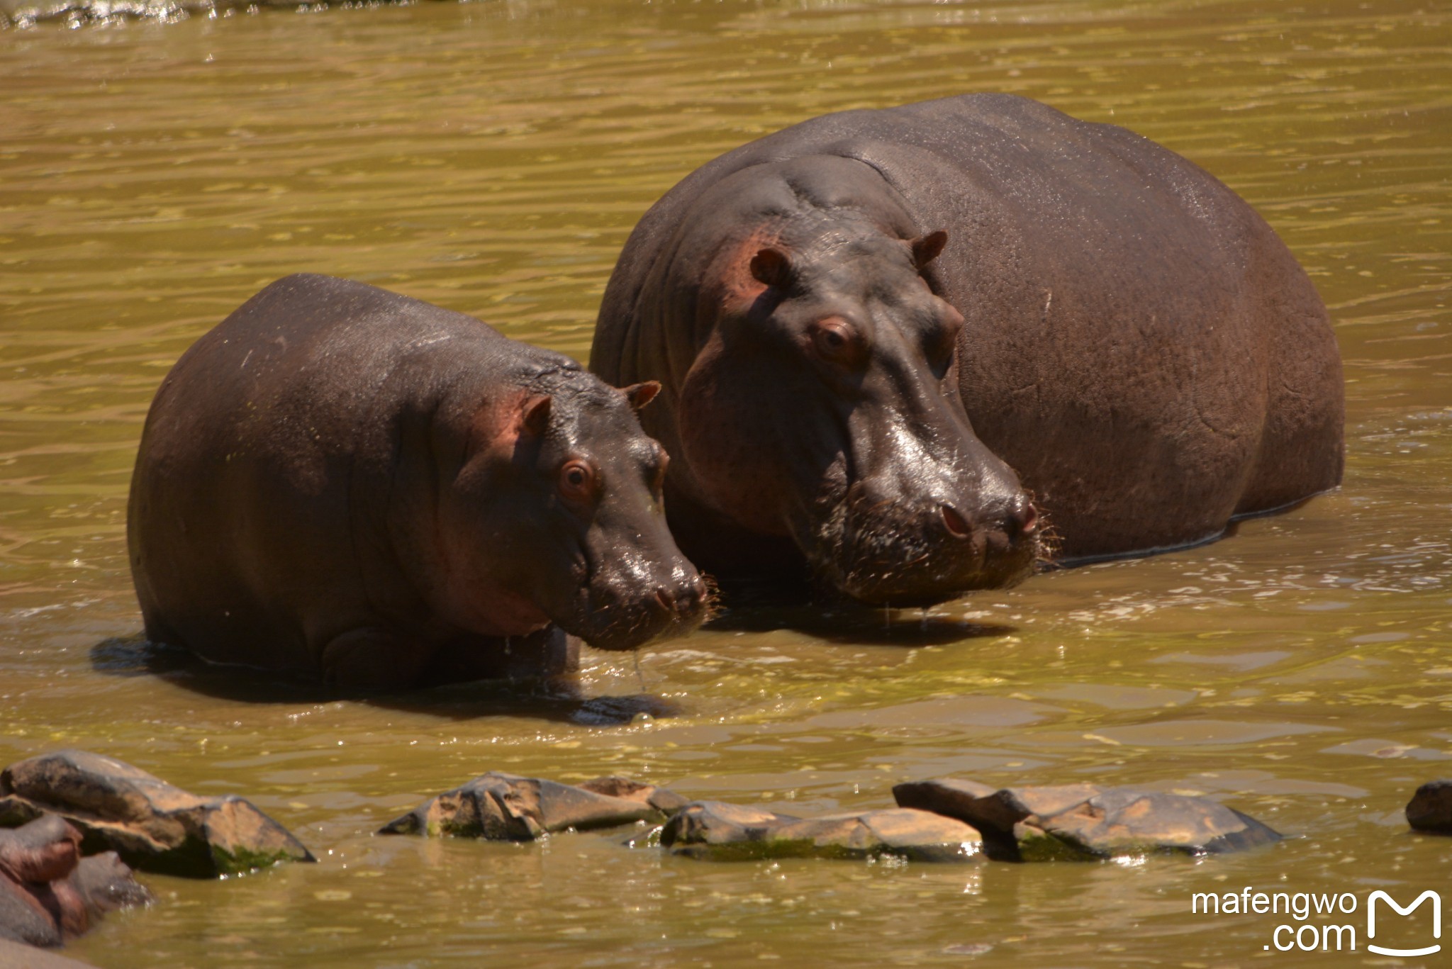
[[[142,636],[103,639],[91,646],[90,660],[91,668],[106,676],[154,676],[193,693],[237,703],[354,700],[456,721],[511,716],[587,726],[630,723],[640,715],[662,719],[680,713],[678,705],[649,693],[585,696],[568,674],[476,680],[380,696],[334,690],[302,673],[208,662],[187,649]]]

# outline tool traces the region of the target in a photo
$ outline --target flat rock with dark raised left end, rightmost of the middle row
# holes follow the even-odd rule
[[[1141,851],[1214,854],[1272,844],[1281,835],[1210,798],[1135,787],[1063,784],[995,789],[971,780],[897,784],[905,808],[977,827],[992,859],[1044,861]]]

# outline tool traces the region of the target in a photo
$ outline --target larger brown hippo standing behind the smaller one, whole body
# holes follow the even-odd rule
[[[1275,232],[1185,158],[1006,94],[826,115],[640,219],[591,368],[655,379],[672,530],[860,600],[1183,546],[1331,488],[1340,357]],[[1032,504],[1028,503],[1032,495]]]

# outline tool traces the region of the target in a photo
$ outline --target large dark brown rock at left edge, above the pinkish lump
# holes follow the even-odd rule
[[[134,869],[215,877],[277,861],[314,861],[286,828],[235,795],[199,798],[139,767],[57,751],[0,771],[0,827],[54,812],[83,835],[81,851],[116,851]]]

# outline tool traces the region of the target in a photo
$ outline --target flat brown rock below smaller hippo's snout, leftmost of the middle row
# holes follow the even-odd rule
[[[393,818],[379,834],[533,841],[569,828],[659,822],[684,803],[674,792],[627,777],[597,777],[575,786],[489,771]]]

